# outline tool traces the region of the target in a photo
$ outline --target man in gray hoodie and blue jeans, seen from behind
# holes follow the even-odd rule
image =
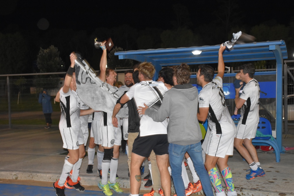
[[[145,107],[138,107],[139,114],[145,114],[153,121],[161,122],[169,117],[168,142],[171,174],[177,196],[185,196],[183,183],[182,161],[186,152],[189,153],[195,170],[200,177],[203,191],[206,195],[213,195],[208,173],[203,164],[201,148],[201,130],[197,120],[198,90],[190,81],[190,67],[181,64],[174,68],[173,82],[175,84],[168,90],[158,111]]]

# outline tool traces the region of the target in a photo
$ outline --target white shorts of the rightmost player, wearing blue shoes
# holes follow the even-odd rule
[[[258,123],[245,125],[239,122],[237,125],[237,134],[235,137],[238,139],[255,138],[257,126],[258,126]]]

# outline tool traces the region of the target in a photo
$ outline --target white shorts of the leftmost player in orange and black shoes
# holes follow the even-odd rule
[[[81,127],[66,127],[59,130],[63,141],[63,148],[76,150],[79,145],[84,144]]]

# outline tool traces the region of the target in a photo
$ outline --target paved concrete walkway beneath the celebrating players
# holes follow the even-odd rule
[[[44,129],[43,126],[12,126],[0,125],[0,178],[36,181],[56,181],[61,173],[66,151],[62,148],[62,139],[57,126]],[[283,146],[294,147],[294,136],[283,135]],[[294,150],[281,154],[280,163],[275,162],[273,151],[265,153],[258,150],[258,157],[265,170],[265,176],[246,180],[248,164],[234,151],[228,164],[232,170],[236,191],[240,195],[273,196],[294,195]],[[120,154],[118,166],[118,182],[129,188],[127,156]],[[97,185],[100,178],[97,174],[97,158],[95,156],[92,174],[86,173],[88,158],[84,158],[80,177],[83,185]],[[147,164],[146,164],[147,166]],[[188,167],[187,167],[188,168]],[[145,169],[145,174],[148,169]],[[191,173],[188,170],[190,180]],[[142,182],[141,189],[145,188]],[[201,191],[199,194],[203,194]]]

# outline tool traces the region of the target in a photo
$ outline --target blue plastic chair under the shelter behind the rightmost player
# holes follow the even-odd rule
[[[272,135],[272,127],[268,119],[259,118],[257,130],[260,131],[263,135]],[[252,144],[255,146],[272,146],[275,151],[276,162],[280,162],[280,150],[278,147],[278,142],[275,138],[272,141],[271,137],[255,137],[252,139]]]

